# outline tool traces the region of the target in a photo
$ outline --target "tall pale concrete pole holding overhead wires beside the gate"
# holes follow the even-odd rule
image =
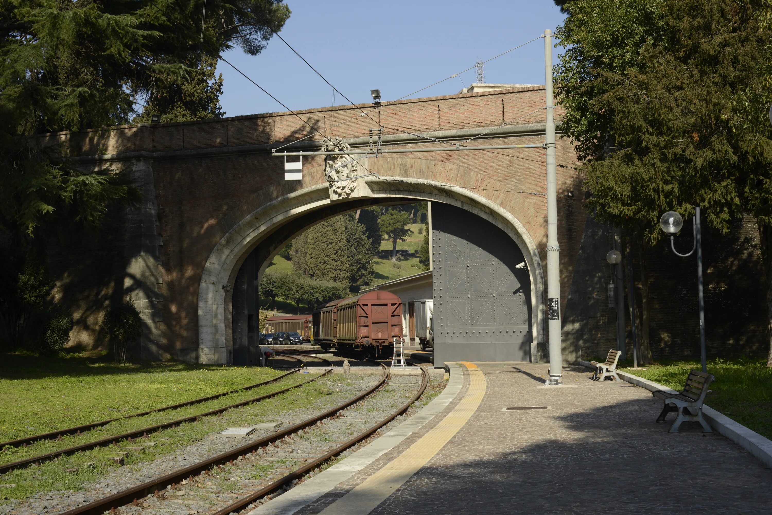
[[[563,382],[563,344],[560,339],[560,247],[557,245],[557,177],[555,174],[555,120],[552,100],[552,32],[544,31],[547,127],[547,323],[550,334],[550,378],[547,385]]]

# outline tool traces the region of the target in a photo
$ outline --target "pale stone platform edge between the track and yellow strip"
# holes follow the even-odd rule
[[[292,515],[292,513],[333,490],[340,483],[380,458],[385,452],[394,449],[409,435],[421,429],[426,422],[440,414],[459,395],[459,391],[464,385],[464,375],[459,364],[445,363],[445,368],[452,370],[448,384],[445,385],[442,393],[432,399],[428,405],[425,405],[420,412],[391,429],[385,435],[370,442],[367,446],[340,460],[329,469],[250,511],[248,515]]]

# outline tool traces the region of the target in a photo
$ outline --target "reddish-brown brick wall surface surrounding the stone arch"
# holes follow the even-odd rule
[[[415,100],[401,100],[373,109],[370,104],[359,107],[366,110],[375,120],[360,116],[361,111],[353,106],[327,107],[299,111],[297,114],[308,124],[315,127],[328,137],[366,137],[368,129],[377,127],[380,122],[385,127],[385,135],[400,134],[398,130],[410,132],[427,132],[436,130],[458,130],[483,127],[498,127],[501,124],[524,125],[543,123],[544,91],[541,87],[522,87],[513,90],[499,90],[466,95],[449,95]],[[560,112],[557,113],[560,117]],[[177,357],[181,352],[198,346],[198,285],[201,280],[201,270],[206,259],[217,242],[236,222],[259,208],[292,191],[306,188],[323,182],[323,161],[321,158],[304,158],[303,181],[288,182],[283,180],[283,159],[272,158],[265,150],[252,149],[240,152],[240,149],[251,148],[249,145],[266,145],[273,142],[293,141],[296,138],[310,136],[308,139],[320,140],[306,124],[298,117],[288,113],[258,114],[244,117],[232,117],[221,120],[205,120],[191,123],[164,124],[141,127],[110,127],[109,129],[90,130],[76,134],[49,134],[44,140],[54,144],[59,143],[69,148],[73,156],[89,156],[104,154],[125,154],[131,152],[183,152],[175,155],[155,155],[151,159],[152,174],[155,183],[157,201],[158,227],[161,232],[162,246],[159,247],[161,269],[163,275],[162,292],[166,297],[159,304],[164,320],[164,338],[162,351],[164,355]],[[543,134],[531,133],[479,139],[469,144],[523,144],[542,143]],[[425,141],[407,143],[402,147],[438,146],[438,143]],[[227,154],[203,153],[195,151],[206,149],[227,151]],[[191,151],[185,154],[184,151]],[[133,155],[133,154],[132,154]],[[135,156],[136,157],[136,156]],[[144,155],[147,158],[147,155]],[[392,156],[393,157],[393,156]],[[419,163],[422,160],[439,161],[452,165],[442,177],[435,180],[447,181],[455,185],[463,185],[470,191],[488,198],[507,210],[525,225],[540,249],[542,259],[546,259],[546,211],[547,202],[543,194],[546,191],[544,152],[541,149],[505,150],[490,152],[455,152],[432,154],[399,154],[399,158]],[[398,161],[398,160],[397,160]],[[381,158],[378,166],[385,166],[387,158]],[[390,161],[389,161],[390,162]],[[87,165],[88,162],[84,162]],[[581,337],[567,338],[567,346],[578,351],[582,347],[585,353],[600,352],[608,347],[609,341],[615,338],[615,313],[608,308],[604,288],[604,256],[611,248],[608,235],[595,228],[587,232],[587,214],[582,207],[584,191],[581,177],[570,168],[574,164],[574,151],[565,139],[557,141],[557,164],[567,165],[557,168],[558,184],[558,216],[560,220],[559,244],[561,266],[561,298],[564,314],[571,319],[572,324],[579,324],[572,333]],[[96,164],[92,164],[97,166]],[[101,166],[101,165],[100,165]],[[400,168],[391,166],[391,174],[421,174],[420,166],[411,165]],[[750,225],[749,225],[750,224]],[[716,265],[706,271],[706,277],[718,274],[723,269],[718,263],[733,263],[736,273],[758,269],[757,250],[753,247],[752,222],[742,225],[742,232],[722,239],[723,254],[709,254],[709,236],[706,235],[706,263],[714,259]],[[590,227],[590,225],[587,225]],[[751,229],[748,229],[748,228]],[[120,233],[117,230],[116,237]],[[741,234],[737,239],[737,234]],[[713,236],[710,236],[711,238]],[[100,243],[94,246],[84,246],[79,249],[78,263],[91,263],[106,259],[100,248]],[[602,251],[602,252],[601,252]],[[74,251],[73,251],[74,252]],[[101,252],[101,253],[100,253]],[[686,281],[693,273],[683,272],[686,260],[667,256],[658,248],[647,251],[647,259],[652,261],[652,295],[657,296],[657,313],[652,312],[652,340],[657,334],[655,354],[688,354],[689,331],[693,325],[689,317],[675,317],[672,310],[667,311],[662,300],[666,295],[679,293],[679,313],[692,313],[689,304],[692,297],[686,292],[691,291]],[[68,258],[69,259],[69,258]],[[113,258],[107,258],[113,259]],[[667,283],[660,279],[665,263],[676,263],[681,269],[669,273],[674,277],[683,276],[684,282],[676,285],[672,280]],[[115,266],[120,268],[120,257],[114,257]],[[723,261],[722,261],[723,260]],[[60,259],[61,277],[64,280],[74,280],[73,274],[86,273],[87,267],[81,267],[74,272],[71,265],[73,259]],[[69,263],[69,264],[66,264]],[[580,274],[574,273],[578,263]],[[755,267],[755,268],[754,268]],[[111,267],[105,272],[96,273],[103,276],[93,286],[83,286],[80,293],[71,295],[86,296],[89,299],[100,298],[99,286],[110,283],[108,277],[114,276]],[[608,269],[608,266],[605,266]],[[707,270],[707,268],[706,268]],[[716,271],[714,271],[716,270]],[[608,272],[608,270],[606,270]],[[93,271],[90,271],[93,275]],[[659,275],[657,275],[659,274]],[[656,276],[656,279],[654,277]],[[716,275],[716,277],[718,277]],[[68,279],[69,278],[69,279]],[[743,280],[747,280],[743,276]],[[100,282],[101,281],[101,282]],[[114,281],[113,281],[114,282]],[[741,281],[716,282],[706,296],[712,299],[709,303],[710,317],[724,317],[726,324],[716,324],[709,317],[711,341],[716,346],[723,345],[732,349],[750,349],[750,341],[757,341],[757,327],[760,327],[757,294],[759,282],[747,280],[740,288]],[[654,286],[656,283],[656,286]],[[661,286],[669,284],[669,286]],[[675,286],[673,286],[675,285]],[[572,290],[573,288],[573,290]],[[695,286],[696,288],[696,286]],[[600,291],[598,291],[600,289]],[[87,293],[86,290],[92,293]],[[723,292],[732,292],[747,298],[753,298],[747,303],[747,310],[741,309],[736,301],[726,300]],[[104,290],[107,291],[107,290]],[[571,292],[571,295],[570,295]],[[105,295],[107,293],[103,293]],[[112,294],[112,293],[110,293]],[[735,293],[733,293],[734,295]],[[587,298],[585,298],[587,297]],[[713,301],[713,299],[720,299]],[[763,296],[760,297],[763,300]],[[696,300],[695,300],[696,302]],[[725,304],[728,303],[729,306]],[[722,307],[717,308],[719,305]],[[84,308],[85,309],[85,308]],[[89,307],[89,310],[98,308]],[[664,310],[664,311],[663,311]],[[670,313],[664,315],[662,313]],[[746,313],[747,314],[744,314]],[[733,313],[729,316],[727,313]],[[736,313],[742,314],[737,317]],[[85,320],[85,319],[84,319]],[[655,324],[656,320],[656,324]],[[695,319],[696,320],[696,319]],[[753,330],[748,336],[738,340],[731,337],[738,324],[748,322]],[[750,322],[749,322],[750,320]],[[90,325],[93,325],[89,322]],[[675,324],[675,325],[674,325]],[[655,333],[655,325],[657,327]],[[721,327],[721,328],[720,328]],[[665,330],[667,328],[667,330]],[[81,330],[81,329],[79,329]],[[754,332],[755,331],[755,332]],[[83,333],[84,335],[86,333]],[[80,338],[80,337],[79,337]],[[85,337],[84,337],[85,338]],[[734,338],[729,343],[727,339]],[[80,341],[80,340],[79,340]],[[720,344],[726,341],[726,344]],[[749,347],[750,346],[750,347]],[[757,347],[753,347],[754,349]],[[573,352],[573,351],[572,351]]]

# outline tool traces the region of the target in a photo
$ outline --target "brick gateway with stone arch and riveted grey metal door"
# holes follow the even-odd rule
[[[453,341],[457,347],[466,342],[487,346],[477,357],[489,361],[543,361],[547,358],[542,271],[547,254],[544,104],[543,86],[517,86],[380,106],[323,107],[43,136],[46,144],[70,149],[86,170],[123,169],[144,197],[141,205],[105,225],[104,236],[96,242],[76,242],[75,248],[56,252],[57,295],[73,307],[76,317],[73,344],[85,348],[103,344],[99,329],[103,313],[110,303],[131,296],[144,328],[137,357],[229,363],[233,286],[242,264],[249,268],[248,258],[265,266],[294,236],[341,212],[426,200],[447,208],[443,212],[447,223],[444,230],[435,231],[435,246],[455,246],[458,251],[451,256],[452,252],[436,249],[434,256],[442,252],[448,256],[442,264],[435,261],[439,309],[455,310],[445,319],[446,327],[439,328],[447,333],[446,348],[451,349]],[[371,117],[361,116],[362,110],[369,110]],[[272,149],[319,151],[331,142],[369,152],[368,134],[378,134],[370,129],[379,126],[384,151],[407,153],[359,161],[357,175],[367,177],[350,183],[336,171],[334,178],[343,179],[337,188],[330,188],[327,180],[337,164],[330,167],[322,156],[303,156],[301,180],[286,181],[284,158],[271,154]],[[457,145],[487,150],[456,151]],[[425,152],[427,147],[443,146],[452,150]],[[574,150],[561,138],[556,151],[564,359],[575,361],[581,348],[608,348],[600,327],[613,313],[601,306],[604,269],[594,257],[606,252],[607,244],[601,232],[584,238],[587,215],[581,207],[584,195],[578,195],[581,177],[573,168]],[[466,232],[455,230],[459,224],[451,221],[454,209],[462,210],[459,217],[469,229]],[[474,217],[467,219],[463,213]],[[472,219],[476,229],[470,225]],[[440,232],[443,242],[438,241]],[[507,244],[489,245],[495,242]],[[484,269],[487,262],[491,268]],[[516,268],[523,262],[523,268]],[[445,268],[439,270],[441,266]],[[464,281],[446,283],[452,276],[462,276],[459,267],[469,269]],[[254,276],[260,273],[252,266]],[[448,289],[452,292],[446,293]],[[584,293],[588,290],[591,296]],[[501,298],[506,291],[512,298]],[[510,305],[515,297],[520,304]],[[523,318],[523,313],[527,320],[513,325],[511,320]],[[488,333],[481,327],[484,324],[491,325]],[[506,335],[513,331],[516,355],[510,354],[515,347],[506,347]],[[449,359],[459,356],[449,354]]]

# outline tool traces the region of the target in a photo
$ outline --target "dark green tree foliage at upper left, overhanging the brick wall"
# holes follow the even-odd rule
[[[121,174],[84,174],[66,161],[68,149],[42,148],[33,135],[127,124],[134,103],[147,97],[151,104],[168,98],[170,111],[160,114],[178,116],[174,95],[154,96],[154,90],[174,82],[171,76],[210,73],[187,66],[202,49],[214,55],[241,46],[259,53],[289,16],[289,8],[273,0],[208,2],[201,42],[202,2],[0,4],[0,227],[16,243],[56,217],[98,225],[110,202],[137,199]],[[213,68],[211,59],[201,61]],[[217,88],[215,81],[201,102],[211,105]]]

